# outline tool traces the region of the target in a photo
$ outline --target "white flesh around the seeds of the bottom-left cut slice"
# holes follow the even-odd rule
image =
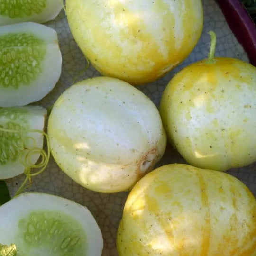
[[[78,221],[87,235],[87,252],[81,256],[101,256],[103,249],[101,229],[91,212],[74,201],[45,193],[23,193],[0,207],[0,243],[15,244],[19,220],[36,211],[60,212]]]

